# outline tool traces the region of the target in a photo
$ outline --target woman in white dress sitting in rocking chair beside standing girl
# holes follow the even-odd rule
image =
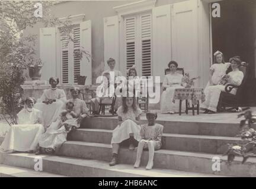
[[[227,84],[235,84],[239,86],[244,79],[244,74],[239,71],[239,66],[241,66],[241,59],[239,57],[232,57],[229,62],[231,63],[232,70],[227,75],[225,75],[225,81],[220,80],[219,84],[215,86],[207,87],[208,92],[206,93],[206,101],[201,105],[201,107],[208,113],[212,114],[217,112],[217,104],[219,102],[220,93],[225,91],[225,86]],[[231,94],[236,94],[236,88],[231,90]]]

